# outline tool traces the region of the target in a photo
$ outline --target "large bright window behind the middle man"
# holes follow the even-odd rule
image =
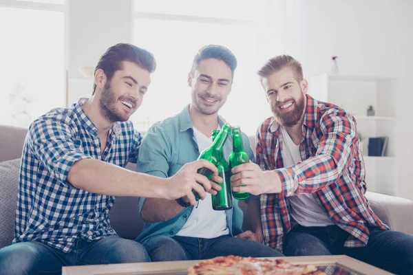
[[[134,44],[152,52],[158,67],[151,76],[143,104],[131,120],[145,131],[154,122],[180,112],[191,102],[187,75],[193,57],[204,45],[219,44],[228,47],[238,61],[231,94],[220,115],[253,135],[266,118],[255,109],[262,109],[263,104],[269,109],[256,75],[260,64],[257,64],[255,4],[231,0],[220,1],[218,5],[218,0],[214,0],[195,8],[195,2],[200,3],[135,1]],[[216,10],[218,6],[220,9]]]

